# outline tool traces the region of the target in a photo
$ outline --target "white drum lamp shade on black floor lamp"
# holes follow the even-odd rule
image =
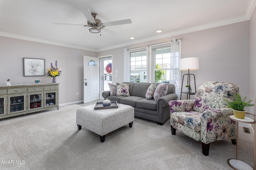
[[[198,57],[189,57],[180,59],[179,61],[180,70],[197,70],[199,69]]]

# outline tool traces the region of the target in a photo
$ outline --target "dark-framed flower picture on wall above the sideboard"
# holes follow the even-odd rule
[[[45,76],[45,60],[23,58],[24,76]]]

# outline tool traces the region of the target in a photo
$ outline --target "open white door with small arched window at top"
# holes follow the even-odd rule
[[[84,103],[100,99],[99,68],[98,58],[84,56]]]

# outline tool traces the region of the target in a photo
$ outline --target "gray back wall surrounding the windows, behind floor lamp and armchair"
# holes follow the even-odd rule
[[[136,48],[182,38],[182,58],[198,57],[199,70],[190,71],[196,76],[196,88],[205,81],[232,82],[240,87],[242,96],[249,96],[249,21],[212,29],[186,33],[136,45],[98,52],[98,56],[113,55],[113,68],[123,73],[123,49]],[[188,73],[182,71],[182,75]],[[113,82],[122,82],[121,76]],[[182,96],[184,99],[186,96]],[[192,98],[194,96],[191,96]]]

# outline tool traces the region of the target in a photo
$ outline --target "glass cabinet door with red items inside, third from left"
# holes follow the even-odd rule
[[[29,106],[28,110],[30,109],[39,109],[42,108],[44,105],[42,104],[42,95],[43,92],[37,92],[37,93],[29,93],[28,99],[29,99]]]

